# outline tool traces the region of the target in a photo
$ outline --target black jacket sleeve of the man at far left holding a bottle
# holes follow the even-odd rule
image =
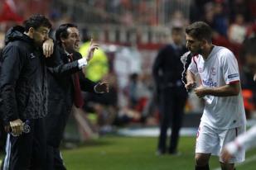
[[[25,58],[17,46],[7,46],[3,50],[0,98],[2,99],[2,120],[5,125],[11,120],[17,120],[19,118],[15,88],[24,63]]]

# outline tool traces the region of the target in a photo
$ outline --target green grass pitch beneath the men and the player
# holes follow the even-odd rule
[[[62,150],[69,170],[193,170],[195,138],[180,139],[180,156],[156,156],[157,138],[102,137],[77,149]],[[237,170],[256,169],[256,149],[247,152],[248,162]],[[218,158],[210,159],[210,169],[219,168]]]

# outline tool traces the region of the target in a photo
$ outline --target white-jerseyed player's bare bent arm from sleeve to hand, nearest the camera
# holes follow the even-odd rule
[[[197,87],[195,93],[197,97],[205,97],[211,95],[215,97],[231,97],[237,96],[240,92],[240,83],[227,84],[221,87]]]

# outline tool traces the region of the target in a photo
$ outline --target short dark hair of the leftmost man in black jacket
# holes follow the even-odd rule
[[[40,26],[46,26],[47,28],[51,29],[51,22],[41,14],[35,14],[29,17],[26,21],[23,22],[25,27],[25,31],[27,32],[29,28],[37,29]]]

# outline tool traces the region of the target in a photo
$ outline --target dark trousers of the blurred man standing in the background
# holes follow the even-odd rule
[[[163,89],[158,95],[160,95],[161,116],[158,150],[162,153],[167,151],[167,130],[171,127],[168,152],[176,152],[187,94],[178,87],[169,87]]]

